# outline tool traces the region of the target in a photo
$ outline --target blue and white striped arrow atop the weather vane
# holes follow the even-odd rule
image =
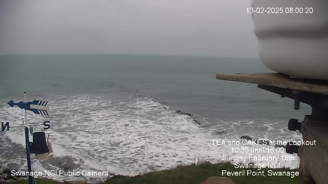
[[[13,100],[7,102],[11,107],[14,105],[18,106],[21,109],[33,111],[36,114],[47,115],[49,111],[49,104],[47,101],[42,100],[33,100],[33,102],[22,102],[15,103]]]

